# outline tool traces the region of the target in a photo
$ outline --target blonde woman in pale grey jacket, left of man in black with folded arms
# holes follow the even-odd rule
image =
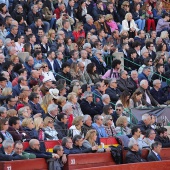
[[[77,102],[76,93],[74,92],[69,93],[67,99],[68,99],[67,103],[72,105],[74,118],[77,116],[83,116],[83,112],[81,111],[80,104]]]

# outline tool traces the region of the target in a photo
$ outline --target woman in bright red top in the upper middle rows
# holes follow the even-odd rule
[[[85,38],[85,31],[83,30],[83,23],[82,22],[78,22],[76,24],[76,28],[73,31],[73,36],[75,38],[75,42],[77,42],[79,37],[84,37]]]

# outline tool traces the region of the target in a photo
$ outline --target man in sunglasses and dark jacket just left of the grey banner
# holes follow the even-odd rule
[[[123,109],[123,105],[122,104],[117,104],[116,107],[115,107],[115,111],[113,112],[112,114],[112,117],[113,117],[113,122],[114,122],[114,125],[116,126],[116,121],[119,117],[121,116],[126,116],[124,113],[123,113],[124,109]]]

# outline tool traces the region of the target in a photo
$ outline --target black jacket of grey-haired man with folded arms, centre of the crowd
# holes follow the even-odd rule
[[[90,104],[85,99],[83,99],[82,102],[80,103],[80,107],[84,115],[88,114],[92,118],[100,113],[98,107],[93,102]]]

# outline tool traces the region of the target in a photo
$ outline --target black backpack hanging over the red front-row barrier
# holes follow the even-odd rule
[[[123,156],[122,156],[122,147],[118,145],[115,146],[109,146],[111,149],[111,155],[113,160],[116,162],[116,164],[122,164],[123,163]]]

